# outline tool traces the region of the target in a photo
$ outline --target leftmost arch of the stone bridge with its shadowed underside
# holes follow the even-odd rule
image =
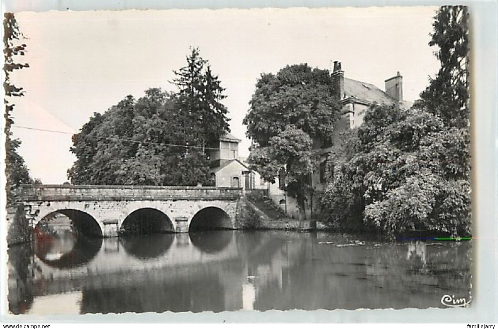
[[[37,214],[32,221],[32,228],[35,229],[36,226],[44,219],[49,216],[60,213],[67,216],[73,227],[81,234],[86,236],[94,236],[94,237],[102,237],[104,229],[102,224],[96,219],[98,216],[92,213],[90,209],[86,209],[84,206],[83,209],[79,209],[77,204],[72,205],[61,205],[58,203],[49,203],[40,209],[40,212]]]

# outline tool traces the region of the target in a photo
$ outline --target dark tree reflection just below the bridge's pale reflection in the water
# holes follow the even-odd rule
[[[92,277],[83,288],[81,313],[235,311],[242,303],[239,273],[240,264],[208,264]]]

